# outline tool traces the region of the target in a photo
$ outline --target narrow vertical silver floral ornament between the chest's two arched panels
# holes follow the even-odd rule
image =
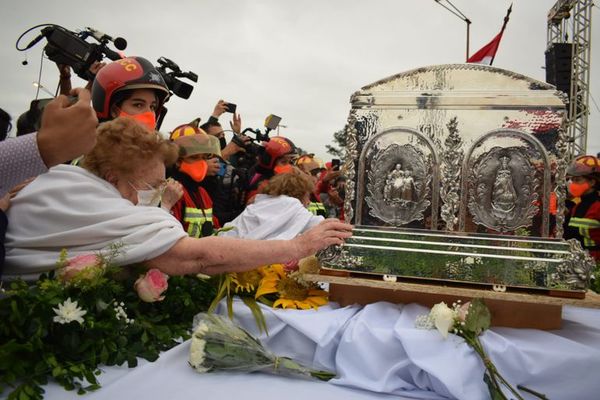
[[[446,223],[446,230],[453,231],[458,223],[460,206],[460,170],[464,158],[462,139],[458,134],[458,122],[453,117],[446,125],[448,137],[445,140],[445,149],[442,153],[442,184],[440,197],[443,201],[442,220]]]

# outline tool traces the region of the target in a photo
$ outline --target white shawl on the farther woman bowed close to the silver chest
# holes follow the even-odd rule
[[[323,217],[313,215],[294,197],[258,194],[254,203],[224,226],[233,229],[219,236],[292,239],[321,221]]]

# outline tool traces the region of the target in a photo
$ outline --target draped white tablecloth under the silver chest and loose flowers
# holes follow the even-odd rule
[[[103,387],[85,398],[489,398],[483,365],[461,338],[444,340],[437,331],[414,328],[415,317],[428,312],[425,307],[381,302],[319,311],[263,310],[268,337],[258,334],[248,309],[235,304],[238,322],[274,353],[334,370],[337,378],[324,383],[261,373],[198,374],[187,365],[185,342],[154,363],[106,368]],[[515,387],[522,384],[553,400],[600,398],[600,310],[565,307],[561,330],[493,328],[481,340]],[[58,386],[47,390],[47,398],[67,398]]]

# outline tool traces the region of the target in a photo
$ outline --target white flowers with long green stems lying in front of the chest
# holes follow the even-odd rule
[[[508,400],[502,391],[502,387],[508,389],[517,400],[524,400],[523,396],[504,379],[492,360],[486,355],[485,349],[479,340],[479,336],[490,327],[491,314],[482,299],[461,304],[460,300],[452,304],[452,307],[444,302],[435,304],[428,315],[420,315],[415,321],[415,326],[422,329],[437,329],[442,336],[448,337],[453,333],[462,337],[477,353],[483,365],[485,374],[483,380],[486,383],[492,400]],[[517,386],[523,392],[527,392],[539,399],[547,397],[541,393],[524,386]],[[512,397],[511,397],[512,398]]]

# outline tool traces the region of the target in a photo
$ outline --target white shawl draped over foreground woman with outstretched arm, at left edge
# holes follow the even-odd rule
[[[26,186],[7,212],[4,276],[35,279],[69,257],[122,244],[116,265],[159,256],[187,236],[158,207],[135,206],[105,180],[80,167],[58,165]]]

